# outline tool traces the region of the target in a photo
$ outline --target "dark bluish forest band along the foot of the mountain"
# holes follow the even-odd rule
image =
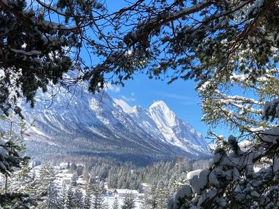
[[[58,134],[54,135],[57,137]],[[75,139],[75,141],[71,139]],[[123,150],[122,148],[126,144],[119,144],[115,147],[105,144],[104,141],[98,143],[98,140],[92,137],[78,137],[75,134],[65,133],[64,136],[59,135],[56,138],[55,144],[48,144],[45,141],[26,141],[26,154],[36,160],[48,160],[55,157],[67,158],[65,156],[68,155],[84,158],[107,158],[121,163],[131,162],[140,167],[158,162],[159,160],[172,160],[175,157],[174,155],[138,150],[136,147],[134,150],[133,148]]]

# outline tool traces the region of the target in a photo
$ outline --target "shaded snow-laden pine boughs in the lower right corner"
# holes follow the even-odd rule
[[[267,140],[271,134],[272,141]],[[279,127],[262,132],[259,139],[260,144],[244,150],[229,136],[224,146],[213,151],[208,169],[188,175],[188,184],[176,192],[168,209],[279,206]],[[264,158],[269,164],[257,168]]]

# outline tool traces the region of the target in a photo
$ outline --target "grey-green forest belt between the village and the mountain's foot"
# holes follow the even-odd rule
[[[71,160],[77,160],[78,157],[70,157]],[[65,158],[63,160],[66,160]],[[158,185],[160,182],[166,183],[172,180],[179,180],[187,171],[202,169],[206,167],[207,160],[196,160],[190,162],[185,157],[177,157],[169,162],[156,162],[147,167],[135,167],[130,163],[115,164],[108,160],[96,158],[93,162],[87,161],[84,166],[75,166],[75,162],[68,162],[70,170],[77,173],[77,176],[99,176],[107,181],[112,188],[137,189],[142,192],[142,183],[148,185]],[[82,172],[81,172],[82,167]],[[88,180],[88,179],[86,179]]]

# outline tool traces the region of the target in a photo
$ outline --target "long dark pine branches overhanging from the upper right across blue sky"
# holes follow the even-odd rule
[[[253,79],[278,62],[278,1],[135,1],[110,17],[118,24],[102,37],[105,59],[88,73],[91,90],[105,82],[105,72],[120,84],[143,71],[202,86],[232,72]]]

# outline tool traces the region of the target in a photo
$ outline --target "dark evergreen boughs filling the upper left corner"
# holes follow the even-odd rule
[[[99,15],[93,11],[105,15],[103,5],[95,1],[48,3],[37,1],[35,6],[33,1],[0,2],[4,20],[1,54],[5,55],[0,61],[0,109],[5,113],[15,109],[17,98],[33,106],[39,88],[45,92],[49,82],[60,84],[64,72],[84,67],[80,57],[82,37],[96,24]]]

